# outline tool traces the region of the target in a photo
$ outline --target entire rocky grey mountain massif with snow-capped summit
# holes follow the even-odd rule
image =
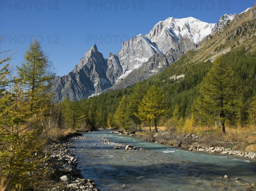
[[[195,49],[204,37],[225,28],[234,17],[236,14],[224,14],[217,24],[193,17],[170,17],[157,23],[148,34],[123,42],[117,55],[110,53],[108,59],[94,45],[73,71],[55,78],[55,101],[67,96],[70,100],[85,99],[106,89],[125,88],[154,76],[186,51]]]

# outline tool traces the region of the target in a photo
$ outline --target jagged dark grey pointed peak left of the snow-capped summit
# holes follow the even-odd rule
[[[107,60],[94,45],[84,54],[73,71],[55,78],[55,100],[63,100],[67,96],[70,100],[81,100],[110,88],[112,85],[106,77],[107,69]]]

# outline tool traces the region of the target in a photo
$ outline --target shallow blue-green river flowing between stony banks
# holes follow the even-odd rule
[[[84,136],[74,140],[73,152],[81,174],[94,179],[101,191],[256,191],[249,185],[256,184],[256,160],[186,151],[109,130]],[[145,151],[116,150],[102,144],[102,137]],[[220,179],[224,175],[230,179]]]

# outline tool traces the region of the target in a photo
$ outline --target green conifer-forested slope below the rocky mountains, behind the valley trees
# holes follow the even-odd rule
[[[116,125],[118,122],[114,119],[115,111],[122,97],[127,97],[127,109],[129,109],[129,105],[138,105],[140,103],[140,100],[142,100],[151,86],[156,86],[163,91],[164,103],[169,109],[163,117],[165,120],[173,116],[175,106],[177,107],[177,105],[179,118],[183,117],[186,119],[191,117],[192,105],[199,95],[200,84],[209,68],[212,67],[212,62],[210,61],[189,63],[192,54],[194,54],[194,51],[189,51],[162,73],[137,83],[134,86],[101,94],[97,97],[91,97],[79,102],[69,102],[65,100],[63,103],[59,103],[63,104],[66,108],[66,111],[63,110],[63,114],[69,114],[69,116],[67,116],[70,119],[69,125],[76,128],[79,128],[81,124],[87,124],[93,128],[122,128],[122,126]],[[237,81],[236,88],[232,91],[237,92],[241,98],[239,105],[242,105],[240,109],[243,115],[239,115],[240,119],[236,119],[236,121],[240,122],[232,122],[233,125],[245,125],[250,123],[248,121],[248,112],[250,103],[253,101],[252,97],[256,95],[255,60],[256,53],[250,53],[250,51],[246,51],[245,48],[239,48],[238,50],[230,51],[223,55],[223,61],[226,63],[226,66],[230,66],[233,71],[234,80]],[[226,80],[227,82],[230,81],[228,78]],[[65,105],[70,105],[70,107]],[[128,114],[128,116],[130,116],[128,119],[133,121],[133,124],[135,123],[136,126],[141,122],[137,122],[133,119],[132,116],[133,112],[136,112],[136,106],[132,108],[132,111],[127,111],[127,113],[130,113],[130,115]],[[87,123],[84,119],[87,120]],[[92,120],[94,122],[91,122]]]

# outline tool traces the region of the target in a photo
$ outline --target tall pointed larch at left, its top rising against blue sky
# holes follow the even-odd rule
[[[40,43],[34,40],[26,50],[21,67],[17,66],[19,77],[17,85],[22,87],[26,105],[34,120],[43,123],[42,117],[48,112],[52,103],[52,73],[48,56],[44,53]]]

